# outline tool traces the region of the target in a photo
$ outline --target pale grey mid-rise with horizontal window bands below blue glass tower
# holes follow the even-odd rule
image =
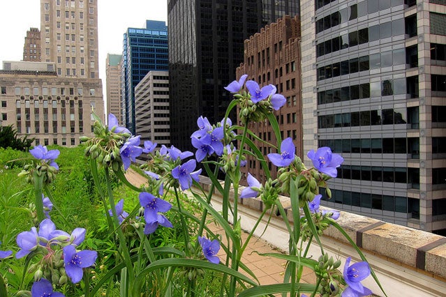
[[[169,73],[149,71],[135,88],[136,134],[170,146]]]

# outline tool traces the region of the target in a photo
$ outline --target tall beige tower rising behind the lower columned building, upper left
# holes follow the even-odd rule
[[[40,0],[42,61],[61,77],[99,78],[98,0]]]

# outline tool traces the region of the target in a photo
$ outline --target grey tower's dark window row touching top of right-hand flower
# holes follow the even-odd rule
[[[418,137],[319,139],[319,146],[328,146],[336,153],[419,154]]]

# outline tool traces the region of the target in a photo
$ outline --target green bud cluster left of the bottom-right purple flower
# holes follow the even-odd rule
[[[320,296],[339,296],[339,287],[342,284],[342,273],[338,270],[341,260],[334,260],[328,254],[322,254],[318,259],[318,265],[314,272],[320,279]]]

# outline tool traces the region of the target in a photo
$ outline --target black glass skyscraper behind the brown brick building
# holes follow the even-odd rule
[[[199,116],[223,119],[232,96],[223,89],[244,61],[244,40],[299,1],[168,1],[172,144],[192,149]]]

